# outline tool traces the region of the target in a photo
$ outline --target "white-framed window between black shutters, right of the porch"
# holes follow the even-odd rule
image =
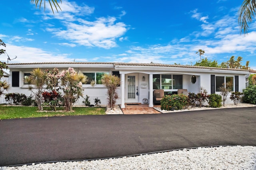
[[[234,76],[216,76],[215,79],[216,79],[215,81],[216,91],[221,91],[220,87],[222,86],[227,88],[226,83],[230,85],[231,91],[234,91]]]

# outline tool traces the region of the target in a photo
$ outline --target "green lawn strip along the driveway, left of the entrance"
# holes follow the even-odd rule
[[[52,117],[74,115],[105,115],[105,107],[73,107],[74,112],[60,112],[64,108],[57,108],[57,112],[37,112],[37,107],[0,105],[0,120],[19,119],[28,117]],[[50,110],[46,107],[44,110]],[[59,112],[58,112],[59,111]]]

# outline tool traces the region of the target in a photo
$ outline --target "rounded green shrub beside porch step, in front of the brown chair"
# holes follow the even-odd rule
[[[174,111],[184,109],[188,104],[188,97],[180,95],[165,95],[161,100],[161,109]]]

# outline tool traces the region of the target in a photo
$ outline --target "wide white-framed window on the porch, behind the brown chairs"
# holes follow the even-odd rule
[[[154,74],[153,89],[164,89],[170,91],[173,89],[182,89],[183,76],[172,74]]]

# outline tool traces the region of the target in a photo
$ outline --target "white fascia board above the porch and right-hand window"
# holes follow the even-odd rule
[[[148,71],[150,73],[170,71],[170,72],[186,72],[186,73],[229,73],[229,74],[248,74],[249,71],[238,71],[238,70],[226,70],[226,69],[203,69],[203,68],[189,68],[189,67],[156,67],[156,66],[132,66],[132,65],[116,65],[116,70],[126,70],[126,71]]]

